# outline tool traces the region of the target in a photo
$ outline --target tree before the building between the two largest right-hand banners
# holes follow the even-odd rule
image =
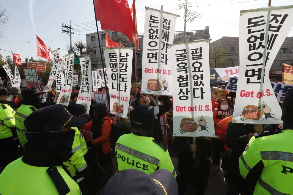
[[[230,67],[231,58],[228,56],[228,51],[221,48],[216,43],[210,45],[210,68],[225,68]]]

